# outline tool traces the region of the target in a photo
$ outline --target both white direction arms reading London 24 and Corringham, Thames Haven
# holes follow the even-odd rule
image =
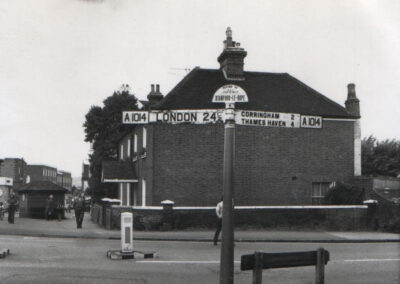
[[[224,122],[223,109],[168,110],[168,111],[124,111],[124,124],[189,123],[208,124]],[[322,117],[297,113],[235,110],[235,123],[247,126],[322,128]]]

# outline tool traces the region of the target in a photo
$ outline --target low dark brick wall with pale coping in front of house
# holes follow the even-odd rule
[[[96,209],[97,208],[97,209]],[[93,211],[98,211],[97,213]],[[100,212],[106,212],[100,213]],[[121,212],[133,213],[135,230],[183,230],[215,228],[214,207],[122,207],[96,205],[92,220],[107,229],[120,228]],[[105,215],[103,219],[102,216]],[[368,206],[237,206],[236,228],[316,230],[366,230]],[[98,216],[98,217],[96,217]],[[97,220],[97,221],[96,221]]]

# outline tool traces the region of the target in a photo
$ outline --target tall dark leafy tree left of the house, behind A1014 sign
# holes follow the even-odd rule
[[[122,111],[136,109],[137,98],[129,93],[128,85],[122,85],[119,91],[114,91],[103,101],[103,107],[92,106],[85,116],[85,142],[90,142],[93,150],[89,154],[91,176],[88,189],[93,201],[116,196],[115,184],[101,182],[102,162],[118,158],[118,141],[132,131],[131,125],[122,124]]]

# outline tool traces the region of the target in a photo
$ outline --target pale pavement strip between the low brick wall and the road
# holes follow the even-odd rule
[[[301,231],[301,230],[235,230],[237,242],[315,242],[315,243],[366,243],[366,242],[400,242],[399,234],[383,232],[344,232],[344,231]],[[19,235],[51,238],[89,238],[120,239],[119,230],[107,230],[90,220],[85,213],[83,228],[77,229],[73,213],[67,214],[62,221],[19,218],[14,224],[7,222],[7,215],[0,220],[0,235]],[[134,240],[154,241],[198,241],[212,242],[213,230],[180,230],[180,231],[134,231]]]

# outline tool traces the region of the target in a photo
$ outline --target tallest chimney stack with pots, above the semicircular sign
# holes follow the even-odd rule
[[[232,41],[232,30],[226,29],[224,49],[218,57],[220,69],[227,80],[244,80],[243,66],[247,52],[240,47],[240,43]]]

